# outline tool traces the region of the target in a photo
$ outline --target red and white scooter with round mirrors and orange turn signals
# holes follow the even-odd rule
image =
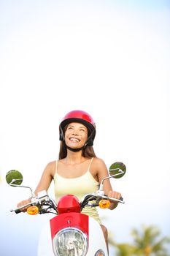
[[[124,176],[126,167],[122,162],[115,162],[109,167],[109,176],[101,181],[96,192],[85,195],[81,201],[74,195],[64,195],[55,203],[46,191],[34,195],[31,187],[21,185],[23,176],[18,170],[10,170],[6,175],[7,183],[12,187],[24,187],[31,190],[31,202],[10,210],[16,214],[27,208],[27,213],[56,216],[42,228],[39,237],[37,256],[108,256],[107,245],[100,225],[95,219],[82,214],[85,206],[109,208],[110,202],[124,203],[123,198],[104,195],[104,181],[107,178]]]

